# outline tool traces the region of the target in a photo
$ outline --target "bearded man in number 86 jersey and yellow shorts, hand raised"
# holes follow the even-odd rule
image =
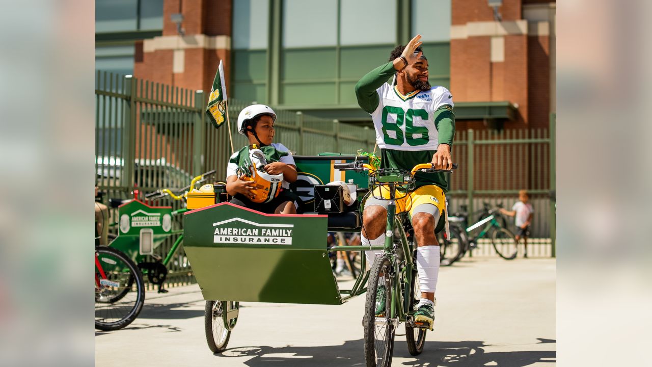
[[[452,95],[448,89],[428,83],[428,59],[421,35],[406,46],[397,46],[389,62],[368,72],[355,86],[358,104],[371,114],[376,141],[381,148],[380,168],[411,170],[432,162],[437,169],[452,168],[451,146],[455,134]],[[389,78],[391,84],[388,83]],[[415,323],[432,328],[435,289],[439,272],[439,244],[435,233],[445,226],[448,183],[443,173],[417,172],[416,189],[396,200],[397,212],[409,212],[417,242],[417,270],[421,301]],[[389,198],[387,192],[374,192]],[[369,197],[363,212],[363,246],[382,246],[385,238],[387,200]],[[365,251],[372,264],[381,251]],[[385,310],[384,287],[378,287],[376,315]]]

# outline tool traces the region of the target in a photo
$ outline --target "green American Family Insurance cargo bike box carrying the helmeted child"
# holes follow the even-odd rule
[[[352,179],[367,187],[365,174],[333,168],[366,158],[294,156],[299,178],[290,189],[310,213],[314,185]],[[359,216],[349,214],[357,220],[343,225],[334,215],[329,223],[329,215],[263,214],[222,202],[185,213],[183,246],[206,300],[338,305],[344,300],[331,270],[327,232],[359,231]]]

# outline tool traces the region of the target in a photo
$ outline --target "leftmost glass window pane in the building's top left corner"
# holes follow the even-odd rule
[[[95,0],[95,32],[135,31],[137,0]]]

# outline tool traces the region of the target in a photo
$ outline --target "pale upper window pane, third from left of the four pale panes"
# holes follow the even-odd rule
[[[394,44],[396,0],[342,0],[340,44]]]

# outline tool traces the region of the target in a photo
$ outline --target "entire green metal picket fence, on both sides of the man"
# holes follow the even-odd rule
[[[230,129],[216,130],[205,116],[203,91],[98,71],[95,95],[96,185],[105,193],[105,203],[109,197],[131,197],[134,185],[145,193],[162,187],[179,189],[211,169],[217,171],[215,180],[224,180],[232,152],[229,130],[234,150],[247,144],[236,125],[248,102],[229,100]],[[297,155],[374,150],[373,129],[301,112],[276,112],[274,140]],[[452,154],[460,169],[451,176],[451,209],[467,204],[474,210],[482,207],[482,201],[511,207],[518,190],[528,189],[536,210],[533,236],[552,238],[554,256],[555,206],[550,192],[556,188],[555,121],[551,116],[546,130],[458,131]],[[175,209],[181,205],[170,200],[156,204]],[[111,211],[110,223],[115,215]],[[181,227],[181,218],[175,226]],[[172,240],[164,249],[171,247]],[[170,270],[170,283],[192,279],[183,247]]]

